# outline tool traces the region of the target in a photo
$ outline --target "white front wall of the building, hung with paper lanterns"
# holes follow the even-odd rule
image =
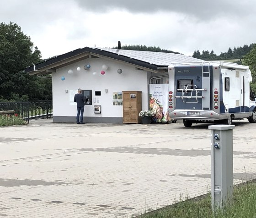
[[[90,64],[91,68],[84,70]],[[101,75],[101,66],[108,69]],[[81,71],[76,71],[80,67]],[[72,69],[73,74],[68,74]],[[118,74],[117,69],[123,73]],[[93,75],[96,72],[96,75]],[[65,80],[62,81],[61,77]],[[75,64],[57,69],[53,73],[53,116],[76,116],[76,105],[69,105],[69,92],[65,90],[91,89],[92,98],[99,97],[100,102],[92,102],[85,106],[85,117],[123,117],[123,106],[113,106],[112,93],[122,91],[142,91],[142,109],[148,108],[148,81],[146,71],[136,71],[135,66],[108,58],[88,58]],[[108,89],[106,93],[104,90]],[[101,91],[101,96],[95,96],[95,91]],[[93,105],[101,105],[101,114],[94,114]]]

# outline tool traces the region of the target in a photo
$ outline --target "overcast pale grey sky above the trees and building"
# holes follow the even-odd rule
[[[256,43],[256,0],[0,0],[10,21],[43,58],[117,41],[190,56]]]

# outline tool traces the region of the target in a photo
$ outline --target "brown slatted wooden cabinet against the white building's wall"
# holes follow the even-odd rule
[[[123,91],[123,123],[141,123],[142,91]]]

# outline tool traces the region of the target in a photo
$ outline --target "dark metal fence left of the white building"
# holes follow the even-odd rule
[[[14,110],[14,114],[0,115],[0,119],[32,119],[53,117],[53,101],[0,102],[0,111]]]

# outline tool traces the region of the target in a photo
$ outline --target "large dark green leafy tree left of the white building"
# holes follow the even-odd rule
[[[42,79],[23,71],[32,62],[40,62],[40,58],[41,52],[33,47],[30,37],[21,31],[20,26],[12,22],[0,23],[0,97],[9,100],[44,100],[42,92],[51,93],[51,89],[46,90],[48,85],[40,82]],[[46,95],[49,96],[49,93]]]

